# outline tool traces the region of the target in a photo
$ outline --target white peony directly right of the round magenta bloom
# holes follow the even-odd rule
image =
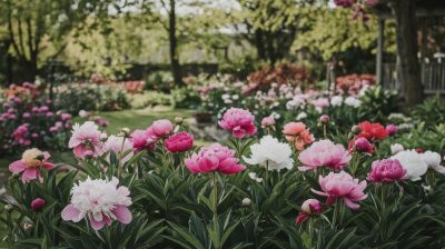
[[[428,170],[428,165],[425,162],[423,156],[415,150],[400,151],[390,157],[390,159],[397,159],[400,162],[402,167],[407,171],[407,177],[412,181],[421,180],[421,177]]]

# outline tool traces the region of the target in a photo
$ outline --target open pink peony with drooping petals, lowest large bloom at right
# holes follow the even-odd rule
[[[367,186],[366,180],[358,182],[349,173],[342,171],[339,173],[330,172],[326,177],[319,176],[322,191],[312,189],[313,192],[327,197],[326,205],[332,206],[337,199],[350,209],[358,209],[360,206],[355,203],[367,198],[364,190]]]

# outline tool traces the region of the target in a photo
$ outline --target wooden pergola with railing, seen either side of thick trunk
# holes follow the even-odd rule
[[[378,38],[377,38],[377,56],[376,56],[376,76],[378,83],[386,89],[403,91],[403,82],[397,79],[399,77],[398,58],[393,57],[387,60],[385,57],[385,22],[394,19],[390,9],[385,4],[376,7],[378,17]],[[444,28],[443,33],[438,33],[445,38],[445,0],[422,0],[416,4],[417,30],[419,38],[418,59],[422,71],[422,83],[426,94],[445,93],[445,44],[439,46],[438,51],[431,51],[428,48],[428,39],[431,30]]]

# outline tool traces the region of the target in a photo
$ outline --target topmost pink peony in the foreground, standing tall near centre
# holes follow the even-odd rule
[[[224,113],[218,124],[220,128],[231,131],[235,138],[244,138],[257,132],[257,127],[254,122],[255,117],[248,110],[230,108]]]

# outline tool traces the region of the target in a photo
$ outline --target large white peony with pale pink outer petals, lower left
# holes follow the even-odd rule
[[[110,226],[113,220],[130,223],[130,191],[127,187],[118,187],[118,183],[117,178],[111,181],[88,178],[75,185],[71,189],[71,202],[61,212],[62,219],[79,222],[86,218],[95,230]]]

